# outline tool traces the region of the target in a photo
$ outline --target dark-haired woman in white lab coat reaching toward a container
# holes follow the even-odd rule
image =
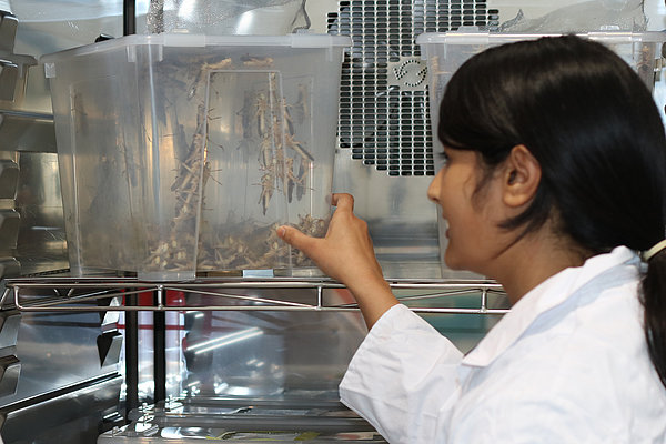
[[[463,356],[398,304],[335,195],[325,239],[279,234],[371,329],[342,401],[392,443],[666,443],[666,140],[647,88],[599,43],[505,44],[453,75],[438,137],[445,262],[498,281],[512,311]]]

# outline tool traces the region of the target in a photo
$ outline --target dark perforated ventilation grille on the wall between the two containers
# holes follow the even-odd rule
[[[340,148],[390,175],[434,175],[426,65],[414,40],[461,26],[494,30],[486,0],[340,1],[327,32],[350,36],[342,65]]]

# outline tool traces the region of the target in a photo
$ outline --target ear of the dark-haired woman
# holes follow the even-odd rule
[[[515,145],[504,163],[503,202],[512,208],[531,202],[541,182],[541,164],[525,145]]]

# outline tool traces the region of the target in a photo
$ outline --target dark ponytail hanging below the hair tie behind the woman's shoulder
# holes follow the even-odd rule
[[[647,261],[642,302],[647,350],[662,384],[666,387],[666,249]]]

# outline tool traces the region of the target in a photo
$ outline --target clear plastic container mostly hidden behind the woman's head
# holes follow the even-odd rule
[[[436,132],[440,120],[440,102],[453,73],[472,56],[483,50],[521,40],[535,40],[546,36],[535,33],[491,33],[476,30],[465,30],[443,33],[423,33],[416,38],[421,46],[421,54],[427,60],[427,81],[430,91],[431,123]],[[662,56],[662,44],[666,42],[664,32],[623,32],[599,31],[578,33],[577,36],[607,44],[629,65],[650,88],[655,83],[655,68]],[[660,69],[660,67],[658,67]],[[433,138],[433,149],[441,151],[443,147],[437,138]],[[442,258],[442,274],[451,274],[443,261],[447,239],[446,222],[438,218],[440,223],[440,258]]]

